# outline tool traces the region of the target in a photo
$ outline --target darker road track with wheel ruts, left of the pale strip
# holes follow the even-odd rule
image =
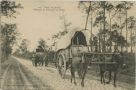
[[[47,83],[43,84],[13,57],[2,65],[0,88],[2,90],[52,90]]]

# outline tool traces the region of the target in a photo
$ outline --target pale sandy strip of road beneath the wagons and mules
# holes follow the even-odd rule
[[[77,85],[70,83],[70,75],[67,72],[65,79],[62,79],[57,69],[51,67],[33,67],[32,63],[28,60],[15,58],[26,67],[29,71],[33,72],[35,76],[42,80],[43,83],[47,83],[52,90],[133,90],[126,89],[125,87],[117,86],[116,88],[112,84],[103,85],[100,81],[95,79],[85,79],[85,87],[81,87],[80,80],[77,79]],[[43,89],[47,90],[47,89]]]

